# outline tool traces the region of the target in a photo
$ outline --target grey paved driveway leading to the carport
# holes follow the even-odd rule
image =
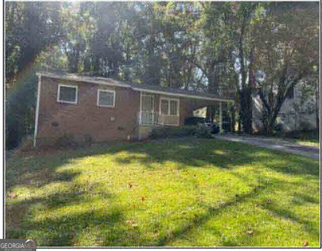
[[[319,157],[318,147],[304,146],[287,140],[273,140],[265,137],[252,137],[247,135],[235,135],[228,133],[214,134],[214,137],[228,141],[252,144],[273,150],[300,154],[316,159],[318,159]]]

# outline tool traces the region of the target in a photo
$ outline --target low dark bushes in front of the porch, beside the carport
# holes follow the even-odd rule
[[[167,137],[182,137],[191,136],[196,133],[196,126],[181,126],[181,127],[159,127],[153,128],[150,133],[150,138],[167,138]]]

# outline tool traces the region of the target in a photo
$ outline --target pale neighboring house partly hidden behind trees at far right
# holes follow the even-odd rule
[[[314,95],[309,96],[303,105],[300,105],[301,89],[302,85],[299,82],[292,90],[293,92],[288,93],[276,118],[276,124],[281,123],[282,130],[285,132],[316,128],[316,98]],[[262,109],[263,103],[260,96],[253,97],[252,124],[254,131],[260,131],[263,128]]]

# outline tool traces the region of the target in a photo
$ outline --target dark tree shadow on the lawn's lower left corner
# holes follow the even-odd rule
[[[73,244],[73,238],[88,227],[106,221],[109,227],[113,227],[122,215],[120,208],[114,207],[108,212],[101,209],[81,213],[66,211],[65,216],[47,213],[41,220],[37,219],[39,215],[32,216],[32,211],[36,209],[37,212],[42,212],[43,209],[59,212],[60,209],[68,206],[71,208],[84,207],[83,204],[90,206],[95,202],[95,198],[86,196],[89,191],[79,191],[80,188],[81,186],[73,186],[69,192],[56,192],[6,205],[6,238],[40,238],[37,244],[41,246],[69,246]],[[106,201],[107,204],[115,199],[115,196],[107,191],[99,191],[93,196]]]

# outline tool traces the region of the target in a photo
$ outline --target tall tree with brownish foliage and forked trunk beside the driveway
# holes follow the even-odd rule
[[[288,5],[285,10],[281,4],[267,10],[255,34],[256,67],[265,75],[256,87],[264,106],[264,127],[272,133],[287,94],[318,66],[319,28],[314,5]]]

